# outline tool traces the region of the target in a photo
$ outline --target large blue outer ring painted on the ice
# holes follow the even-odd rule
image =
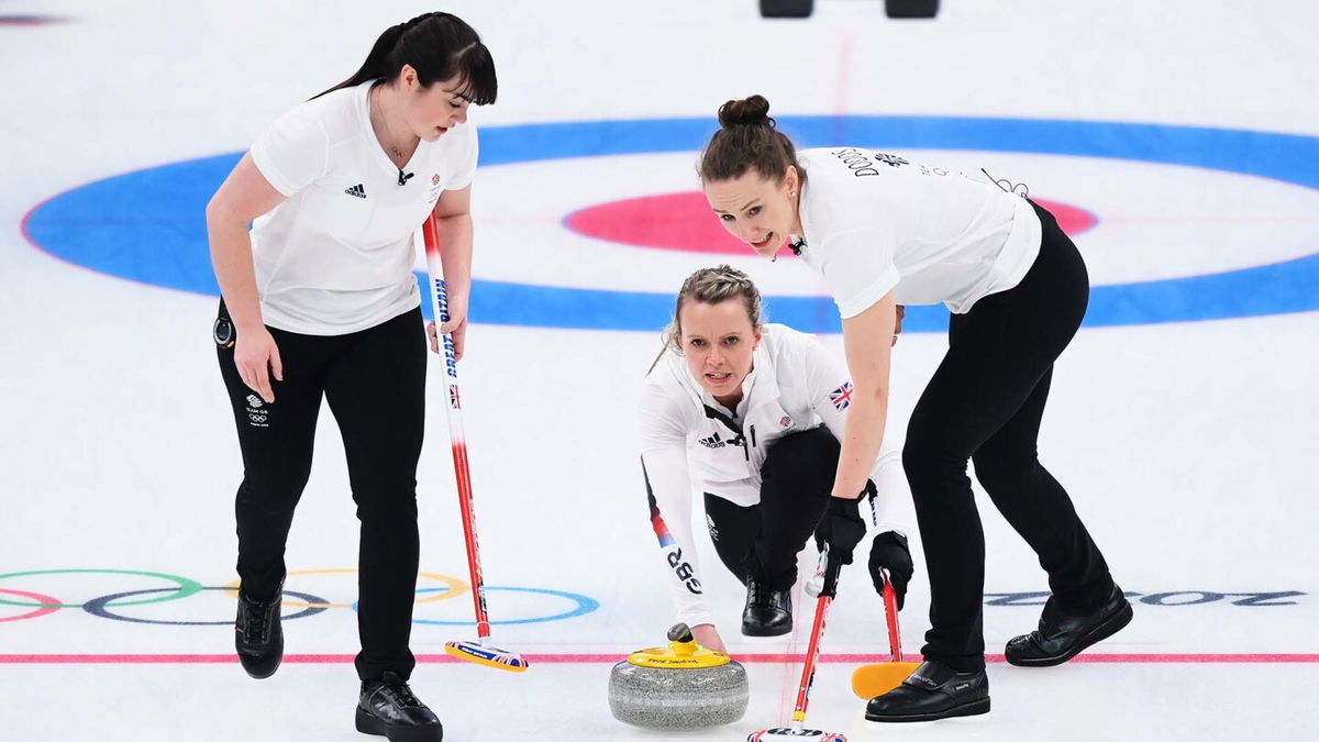
[[[1319,137],[1162,124],[951,116],[783,116],[801,147],[967,149],[1187,165],[1319,187]],[[481,128],[481,165],[565,157],[694,152],[710,118],[568,121]],[[204,206],[239,154],[137,170],[62,193],[24,219],[33,244],[111,276],[219,294],[206,244]],[[698,260],[694,260],[694,267]],[[805,269],[798,267],[797,269]],[[422,284],[425,296],[426,281]],[[677,290],[677,287],[674,287]],[[836,333],[828,297],[766,297],[776,322]],[[1319,252],[1273,263],[1157,281],[1093,287],[1086,325],[1116,326],[1319,309]],[[430,302],[422,301],[429,316]],[[595,330],[658,330],[673,293],[580,289],[474,280],[474,322]],[[942,331],[942,306],[907,309],[905,331]]]

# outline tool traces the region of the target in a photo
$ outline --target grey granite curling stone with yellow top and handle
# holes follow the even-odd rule
[[[667,647],[632,652],[609,671],[613,718],[646,729],[703,729],[747,713],[747,669],[707,650],[686,623],[669,630]]]

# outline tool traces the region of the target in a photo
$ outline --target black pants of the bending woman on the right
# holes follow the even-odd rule
[[[1086,264],[1051,214],[1039,257],[1022,281],[948,323],[948,354],[907,426],[902,465],[930,573],[923,654],[960,671],[984,667],[985,543],[967,459],[995,507],[1039,556],[1051,601],[1092,613],[1113,586],[1108,565],[1067,491],[1039,465],[1035,440],[1054,360],[1089,297]]]

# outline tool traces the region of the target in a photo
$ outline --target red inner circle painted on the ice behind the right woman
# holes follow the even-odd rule
[[[1099,219],[1076,206],[1035,198],[1058,226],[1071,236],[1093,227]],[[588,238],[633,247],[749,255],[751,247],[729,235],[710,213],[700,191],[665,193],[611,201],[568,214],[563,226]],[[782,255],[781,257],[790,257]]]

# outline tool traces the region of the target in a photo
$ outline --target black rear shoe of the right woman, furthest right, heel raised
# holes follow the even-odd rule
[[[1117,585],[1108,601],[1089,615],[1063,615],[1050,601],[1039,617],[1039,628],[1009,640],[1004,655],[1017,667],[1053,667],[1117,634],[1130,622],[1132,603]]]

